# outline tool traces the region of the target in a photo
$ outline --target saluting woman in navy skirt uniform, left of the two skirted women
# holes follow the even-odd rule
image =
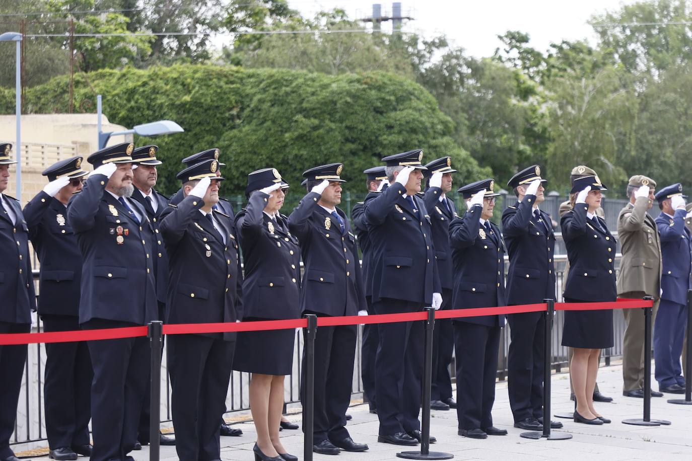
[[[243,321],[300,318],[300,247],[289,233],[284,182],[276,169],[248,175],[248,206],[235,216],[245,263]],[[233,369],[252,373],[250,409],[255,460],[298,460],[279,440],[284,376],[291,374],[295,330],[239,332]]]

